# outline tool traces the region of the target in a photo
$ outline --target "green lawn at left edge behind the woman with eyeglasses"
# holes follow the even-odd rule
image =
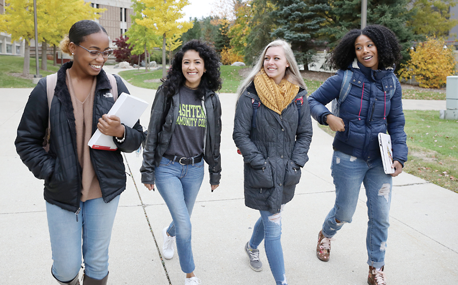
[[[59,66],[53,66],[53,61],[47,61],[48,71],[40,70],[40,74],[46,75],[55,73]],[[14,55],[0,55],[0,88],[34,88],[36,84],[31,79],[23,79],[9,75],[9,73],[22,73],[24,58]],[[41,65],[41,59],[39,62]],[[36,73],[35,58],[30,59],[30,74]]]

